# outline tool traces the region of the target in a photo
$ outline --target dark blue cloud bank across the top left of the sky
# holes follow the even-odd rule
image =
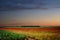
[[[46,0],[0,0],[0,10],[41,8]]]

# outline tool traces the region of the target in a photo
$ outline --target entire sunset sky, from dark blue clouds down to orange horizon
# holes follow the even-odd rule
[[[60,0],[0,0],[0,26],[59,26]]]

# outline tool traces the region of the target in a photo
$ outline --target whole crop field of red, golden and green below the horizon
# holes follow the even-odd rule
[[[0,40],[60,40],[60,29],[0,28]]]

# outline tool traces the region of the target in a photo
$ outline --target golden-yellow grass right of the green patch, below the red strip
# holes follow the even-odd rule
[[[17,31],[15,31],[17,33]],[[33,32],[33,31],[18,31],[18,33],[29,36],[28,38],[34,38],[34,40],[60,40],[60,32]]]

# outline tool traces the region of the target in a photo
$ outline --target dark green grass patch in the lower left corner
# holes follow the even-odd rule
[[[27,36],[0,30],[0,40],[24,40]]]

